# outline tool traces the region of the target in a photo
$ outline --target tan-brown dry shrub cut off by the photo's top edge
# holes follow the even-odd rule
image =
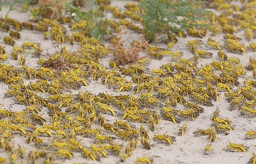
[[[61,15],[67,0],[39,0],[39,7],[42,9],[42,17],[54,19]]]

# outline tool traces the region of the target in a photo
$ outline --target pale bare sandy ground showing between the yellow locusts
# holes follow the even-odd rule
[[[120,9],[124,9],[124,4],[127,2],[132,1],[112,1],[111,5],[117,6]],[[3,17],[5,13],[7,12],[7,8],[4,8],[0,12],[0,17]],[[29,20],[29,12],[18,12],[18,11],[12,11],[10,12],[10,17],[22,22],[22,21],[28,21]],[[23,42],[35,42],[39,43],[42,50],[45,50],[43,52],[41,58],[47,58],[48,55],[53,55],[54,52],[56,52],[55,46],[58,45],[58,43],[52,39],[44,40],[42,34],[40,34],[37,31],[28,31],[23,30],[20,31],[21,38],[15,39],[15,46],[21,46]],[[10,45],[7,45],[3,41],[4,35],[7,35],[6,32],[0,31],[0,44],[1,46],[5,47],[5,50],[7,50],[7,54],[9,55],[9,59],[5,60],[4,64],[8,64],[10,66],[17,66],[19,67],[19,63],[16,60],[12,60],[10,57],[12,47]],[[211,33],[207,33],[203,39],[200,39],[203,41],[203,43],[206,43],[208,40],[208,37],[211,35]],[[242,42],[247,46],[249,46],[250,42],[256,42],[256,39],[252,39],[251,41],[247,41],[244,37],[244,31],[238,30],[238,33],[236,33],[236,36],[241,37]],[[139,37],[138,34],[135,34],[132,31],[129,31],[129,34],[126,36],[128,40],[136,39]],[[224,46],[225,42],[223,39],[223,34],[218,34],[217,36],[211,36],[212,39],[219,42],[220,45]],[[183,51],[184,55],[182,58],[189,59],[192,58],[193,55],[191,52],[189,52],[189,49],[186,47],[186,44],[189,40],[193,40],[195,38],[192,38],[188,36],[187,38],[181,39],[178,38],[178,43],[174,45],[174,47],[171,49],[173,52],[175,51]],[[108,43],[106,43],[108,44]],[[69,44],[64,44],[67,46],[67,50],[75,51],[78,50],[79,45],[75,44],[74,46],[71,46]],[[157,44],[159,47],[167,48],[166,44]],[[214,55],[212,58],[201,58],[199,60],[199,63],[197,63],[197,66],[200,68],[202,66],[206,66],[208,63],[212,63],[215,61],[221,61],[221,59],[217,56],[217,50],[212,50],[211,48],[208,48],[204,45],[202,45],[203,50],[207,50],[208,52],[212,52]],[[227,56],[229,58],[238,58],[242,64],[242,66],[247,66],[249,63],[249,58],[255,58],[255,52],[245,52],[243,55],[227,52],[225,48],[222,49],[224,52],[227,53]],[[48,54],[48,55],[47,55]],[[108,55],[106,58],[101,58],[101,64],[102,66],[106,66],[109,68],[108,63],[109,60],[113,58],[113,55]],[[32,58],[31,53],[28,52],[26,55],[26,66],[29,66],[34,69],[39,69],[40,66],[37,65],[38,58]],[[165,56],[162,60],[155,60],[151,59],[151,63],[148,64],[149,69],[159,69],[159,67],[162,64],[169,63],[171,60],[171,55]],[[239,78],[239,82],[241,82],[241,85],[243,85],[243,82],[246,78],[252,77],[252,71],[247,71],[247,74],[243,77]],[[130,77],[127,77],[127,79],[130,79]],[[23,79],[26,85],[29,84],[29,82],[35,82],[35,79],[28,80]],[[16,104],[13,97],[6,98],[4,96],[5,93],[7,93],[8,87],[10,85],[5,84],[4,82],[0,83],[0,98],[1,98],[1,109],[11,109],[14,112],[22,111],[26,108],[24,105]],[[255,90],[255,87],[254,87]],[[116,93],[113,89],[108,89],[106,85],[101,84],[101,80],[98,81],[91,80],[88,86],[81,87],[80,90],[72,90],[72,93],[76,94],[78,92],[85,92],[90,91],[91,93],[97,95],[102,92],[108,92],[110,95],[124,95],[124,94],[135,94],[134,92],[121,92]],[[180,123],[173,123],[167,120],[162,119],[159,124],[157,124],[156,130],[152,132],[149,130],[147,123],[135,123],[132,122],[132,125],[135,125],[135,127],[139,130],[140,125],[144,125],[146,130],[148,130],[150,139],[149,143],[151,144],[151,149],[147,150],[144,149],[143,146],[140,144],[140,138],[139,143],[136,149],[132,152],[132,156],[128,157],[125,162],[121,162],[120,158],[115,155],[108,155],[108,157],[102,157],[100,162],[93,161],[91,159],[83,158],[83,156],[75,152],[74,157],[70,160],[61,160],[61,162],[57,163],[135,163],[136,159],[138,157],[151,157],[154,160],[154,163],[178,163],[178,164],[185,164],[185,163],[225,163],[225,164],[236,164],[236,163],[248,163],[249,159],[252,157],[252,153],[256,152],[256,141],[254,139],[248,139],[245,140],[244,136],[246,134],[246,131],[248,130],[255,130],[256,128],[256,120],[255,117],[247,117],[244,115],[241,115],[238,110],[230,111],[229,110],[229,103],[225,100],[226,92],[221,92],[219,101],[213,101],[214,106],[208,107],[203,106],[204,112],[200,114],[199,117],[197,117],[193,121],[189,120],[182,120]],[[189,98],[187,99],[189,100]],[[208,129],[211,128],[211,114],[217,109],[217,107],[220,110],[219,117],[225,118],[227,117],[231,122],[232,125],[235,126],[235,130],[229,130],[227,133],[219,133],[217,134],[217,141],[212,142],[212,149],[213,152],[209,155],[204,154],[204,149],[207,144],[210,142],[208,141],[208,136],[200,136],[200,137],[194,137],[193,133],[199,129]],[[176,106],[176,109],[183,109],[183,106],[178,104]],[[42,113],[46,113],[46,108],[43,108]],[[46,115],[46,114],[45,114]],[[103,116],[106,118],[106,120],[110,123],[115,122],[117,117],[113,117],[110,114],[103,114]],[[46,116],[45,116],[46,117]],[[181,127],[181,125],[184,124],[184,122],[187,122],[187,131],[184,134],[184,136],[178,136],[178,128]],[[98,128],[97,125],[93,125],[93,127]],[[113,135],[113,133],[110,133],[108,130],[102,130],[104,134],[106,135]],[[174,142],[172,145],[167,146],[165,144],[158,144],[157,142],[153,141],[153,137],[155,134],[162,134],[167,133],[170,136],[176,137],[176,142]],[[83,143],[83,147],[90,147],[91,144],[94,144],[94,141],[92,138],[84,138],[79,136],[79,139]],[[45,139],[50,141],[50,139]],[[123,144],[124,147],[127,145],[127,141],[121,140],[120,138],[116,138],[115,140],[118,142],[118,144]],[[246,152],[227,152],[225,151],[225,148],[227,145],[232,142],[236,144],[244,144],[246,147],[249,147],[249,149]],[[37,149],[34,147],[34,144],[26,144],[26,137],[15,135],[12,138],[12,143],[14,145],[20,145],[21,147],[26,148],[25,151],[25,158],[23,160],[18,160],[18,162],[28,163],[29,159],[27,155],[31,150]],[[123,148],[124,149],[124,148]],[[124,152],[124,150],[122,150]],[[7,155],[7,151],[5,151],[2,147],[0,147],[0,157],[5,157],[7,159],[10,159]],[[10,160],[8,160],[10,163]],[[41,160],[37,160],[37,163],[42,163]]]

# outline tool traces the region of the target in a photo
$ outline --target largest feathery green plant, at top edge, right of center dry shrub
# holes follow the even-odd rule
[[[140,1],[146,39],[153,42],[165,34],[207,26],[200,21],[208,19],[209,11],[197,8],[202,7],[203,3],[200,0]]]

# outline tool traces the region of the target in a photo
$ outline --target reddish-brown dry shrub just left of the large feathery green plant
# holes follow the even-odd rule
[[[119,27],[119,32],[116,34],[116,38],[113,39],[113,42],[110,45],[113,51],[114,60],[120,65],[134,63],[140,59],[140,52],[143,52],[143,50],[148,47],[148,43],[142,37],[142,42],[135,41],[125,48],[124,43],[127,42],[127,40],[121,41],[122,34],[127,34],[127,28],[125,26]]]

